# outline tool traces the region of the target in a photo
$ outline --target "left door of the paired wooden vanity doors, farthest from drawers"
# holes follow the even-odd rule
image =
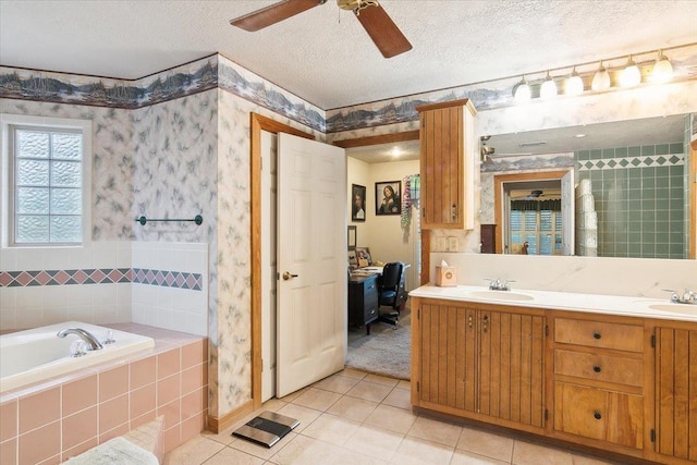
[[[454,305],[420,305],[418,331],[421,405],[449,413],[475,412],[475,311]]]

